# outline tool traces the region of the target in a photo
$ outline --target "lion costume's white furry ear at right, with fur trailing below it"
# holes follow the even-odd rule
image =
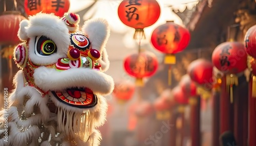
[[[102,71],[108,70],[109,58],[105,51],[106,41],[110,36],[110,27],[108,21],[103,18],[90,19],[84,22],[82,31],[89,36],[92,42],[92,48],[98,50],[101,53],[101,64]]]

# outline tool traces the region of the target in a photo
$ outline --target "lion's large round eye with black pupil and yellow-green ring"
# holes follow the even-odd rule
[[[49,56],[57,52],[55,43],[45,36],[37,36],[35,39],[35,54],[38,56]]]

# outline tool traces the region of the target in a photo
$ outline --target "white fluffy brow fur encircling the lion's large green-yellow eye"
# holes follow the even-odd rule
[[[35,64],[48,65],[56,63],[58,58],[67,56],[70,44],[69,30],[65,23],[55,15],[38,13],[29,17],[29,22],[24,21],[22,23],[22,28],[19,29],[18,35],[22,39],[26,39],[25,35],[31,39],[29,42],[29,58]],[[48,57],[39,57],[35,54],[35,37],[41,35],[54,41],[57,46],[56,54]]]

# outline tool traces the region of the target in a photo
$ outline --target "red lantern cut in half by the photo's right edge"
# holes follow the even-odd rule
[[[244,46],[246,53],[256,58],[256,25],[249,28],[246,32]]]

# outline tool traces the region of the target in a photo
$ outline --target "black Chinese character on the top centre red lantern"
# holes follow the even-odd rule
[[[128,10],[129,11],[125,11],[126,12],[126,17],[128,21],[131,21],[131,19],[135,18],[136,20],[139,20],[139,14],[136,13],[136,11],[138,10],[138,8],[136,8],[135,6],[140,6],[141,4],[139,3],[139,1],[141,0],[130,0],[129,1],[129,5],[126,5],[125,7],[129,7]],[[132,6],[132,7],[130,7]]]

